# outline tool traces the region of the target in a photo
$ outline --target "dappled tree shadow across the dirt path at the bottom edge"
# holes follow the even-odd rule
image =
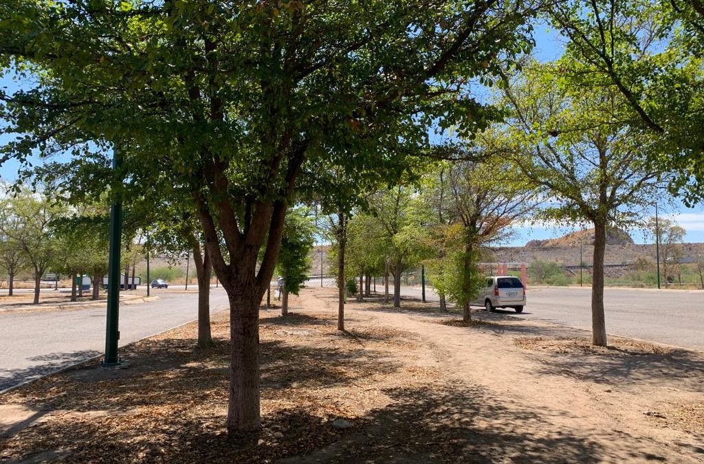
[[[436,386],[386,394],[394,402],[372,410],[356,433],[282,463],[597,463],[652,457],[625,448],[606,451],[589,439],[591,431],[555,427],[543,418],[550,411],[491,398],[479,388]]]

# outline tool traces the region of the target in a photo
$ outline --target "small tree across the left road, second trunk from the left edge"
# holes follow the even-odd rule
[[[20,246],[34,271],[34,304],[39,304],[42,276],[58,251],[51,223],[63,213],[46,196],[26,190],[0,205],[1,232]]]

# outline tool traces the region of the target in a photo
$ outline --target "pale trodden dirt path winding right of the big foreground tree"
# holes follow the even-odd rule
[[[324,308],[335,307],[329,291],[313,289],[310,295]],[[494,462],[539,456],[558,462],[704,462],[704,431],[676,419],[681,408],[704,401],[704,359],[697,353],[648,353],[639,344],[604,351],[558,346],[555,353],[549,344],[543,346],[546,342],[533,343],[536,352],[515,341],[585,334],[486,313],[474,317],[489,324],[448,327],[438,323],[447,315],[422,312],[429,305],[406,306],[420,311],[350,302],[347,327],[386,326],[417,337],[425,349],[407,362],[435,368],[439,378],[447,379],[437,382],[438,391],[426,392],[437,408],[420,422],[433,423],[440,442],[455,441],[458,457],[477,453]],[[318,311],[320,305],[310,302],[308,308]],[[497,454],[473,449],[473,440],[491,442]],[[332,448],[308,460],[335,457],[343,456]]]

